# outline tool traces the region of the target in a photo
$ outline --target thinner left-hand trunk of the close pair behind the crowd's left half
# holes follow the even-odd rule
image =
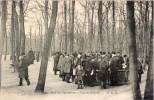
[[[64,0],[65,52],[67,52],[67,1]]]

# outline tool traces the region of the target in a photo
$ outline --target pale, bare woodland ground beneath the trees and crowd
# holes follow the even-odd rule
[[[9,57],[8,57],[9,59]],[[100,86],[85,87],[77,89],[74,83],[66,83],[55,76],[52,71],[53,59],[49,59],[45,94],[35,93],[35,87],[38,81],[40,62],[34,62],[29,66],[29,79],[31,85],[18,86],[18,74],[13,73],[10,67],[10,61],[2,61],[2,88],[0,91],[0,100],[132,100],[130,85],[109,87],[100,89]],[[141,91],[144,93],[146,72],[142,77]]]

